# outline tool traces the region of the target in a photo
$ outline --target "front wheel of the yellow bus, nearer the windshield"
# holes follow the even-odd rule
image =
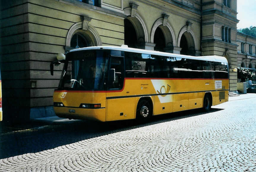
[[[152,106],[146,99],[139,100],[136,109],[136,119],[140,121],[147,121],[152,116]]]

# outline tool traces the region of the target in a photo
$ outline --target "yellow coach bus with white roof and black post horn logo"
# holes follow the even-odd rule
[[[102,122],[203,108],[228,101],[226,58],[127,46],[70,50],[53,107],[58,117]]]

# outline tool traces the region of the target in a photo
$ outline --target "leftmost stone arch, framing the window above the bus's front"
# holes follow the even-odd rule
[[[76,33],[79,33],[83,35],[85,38],[90,39],[92,41],[92,46],[102,45],[100,35],[98,34],[98,32],[93,26],[89,24],[87,30],[82,30],[81,28],[82,28],[82,22],[77,22],[69,29],[69,32],[66,38],[67,47],[70,47],[71,38]]]

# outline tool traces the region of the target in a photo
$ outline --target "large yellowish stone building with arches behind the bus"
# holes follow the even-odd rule
[[[225,56],[236,91],[236,6],[236,0],[1,0],[4,118],[54,115],[62,66],[54,76],[49,66],[58,53],[76,47],[127,44]]]

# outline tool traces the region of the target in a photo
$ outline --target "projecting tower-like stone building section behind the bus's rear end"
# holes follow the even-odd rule
[[[202,55],[220,55],[228,60],[229,90],[237,90],[236,1],[208,0],[203,4]]]

